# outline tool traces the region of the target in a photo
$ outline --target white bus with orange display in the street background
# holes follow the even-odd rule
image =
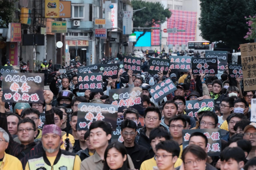
[[[188,54],[190,56],[198,53],[204,56],[205,50],[211,50],[210,41],[188,41]],[[200,57],[200,56],[197,56]]]

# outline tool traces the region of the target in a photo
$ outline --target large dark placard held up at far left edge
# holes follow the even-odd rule
[[[4,102],[44,103],[44,74],[3,73]]]

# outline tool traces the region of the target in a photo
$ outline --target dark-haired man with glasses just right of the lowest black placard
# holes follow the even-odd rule
[[[241,113],[234,113],[231,114],[228,119],[228,133],[225,137],[223,137],[222,139],[229,142],[230,137],[232,137],[235,134],[235,130],[234,130],[234,126],[236,125],[237,122],[243,120],[243,119],[247,119],[245,115],[241,114]]]

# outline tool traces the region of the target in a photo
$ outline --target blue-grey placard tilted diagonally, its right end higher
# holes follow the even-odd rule
[[[167,78],[162,83],[156,84],[150,89],[148,89],[148,92],[151,94],[153,99],[157,102],[163,99],[168,94],[174,92],[175,90],[177,90],[176,86],[174,85],[174,83],[170,78]]]

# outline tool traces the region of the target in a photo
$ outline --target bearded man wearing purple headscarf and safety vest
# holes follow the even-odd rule
[[[79,156],[60,149],[61,129],[57,125],[44,125],[42,144],[44,151],[29,158],[25,170],[80,169],[81,159]]]

